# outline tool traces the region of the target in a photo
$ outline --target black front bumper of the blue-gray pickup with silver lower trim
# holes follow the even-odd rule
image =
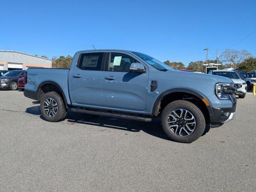
[[[232,101],[231,108],[212,108],[213,120],[211,122],[212,127],[221,126],[223,123],[233,120],[236,116],[236,97],[230,96]]]

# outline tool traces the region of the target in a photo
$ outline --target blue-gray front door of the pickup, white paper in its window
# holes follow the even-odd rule
[[[148,92],[146,73],[129,72],[131,63],[138,62],[124,52],[111,52],[102,76],[102,107],[143,111]]]

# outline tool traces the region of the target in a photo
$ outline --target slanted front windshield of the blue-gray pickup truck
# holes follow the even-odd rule
[[[139,52],[132,52],[136,54],[138,57],[140,57],[142,60],[146,61],[148,64],[150,64],[152,67],[158,69],[158,70],[173,70],[170,66],[156,60],[155,58],[152,58],[146,54],[139,53]]]

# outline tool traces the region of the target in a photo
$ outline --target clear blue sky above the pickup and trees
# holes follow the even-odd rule
[[[187,65],[256,30],[256,1],[0,0],[0,26],[0,50],[52,58],[94,44]],[[256,32],[231,48],[255,56]]]

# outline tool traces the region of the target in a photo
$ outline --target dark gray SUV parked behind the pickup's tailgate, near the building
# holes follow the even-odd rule
[[[5,73],[0,77],[0,89],[18,89],[18,79],[24,76],[25,70],[13,70]]]

